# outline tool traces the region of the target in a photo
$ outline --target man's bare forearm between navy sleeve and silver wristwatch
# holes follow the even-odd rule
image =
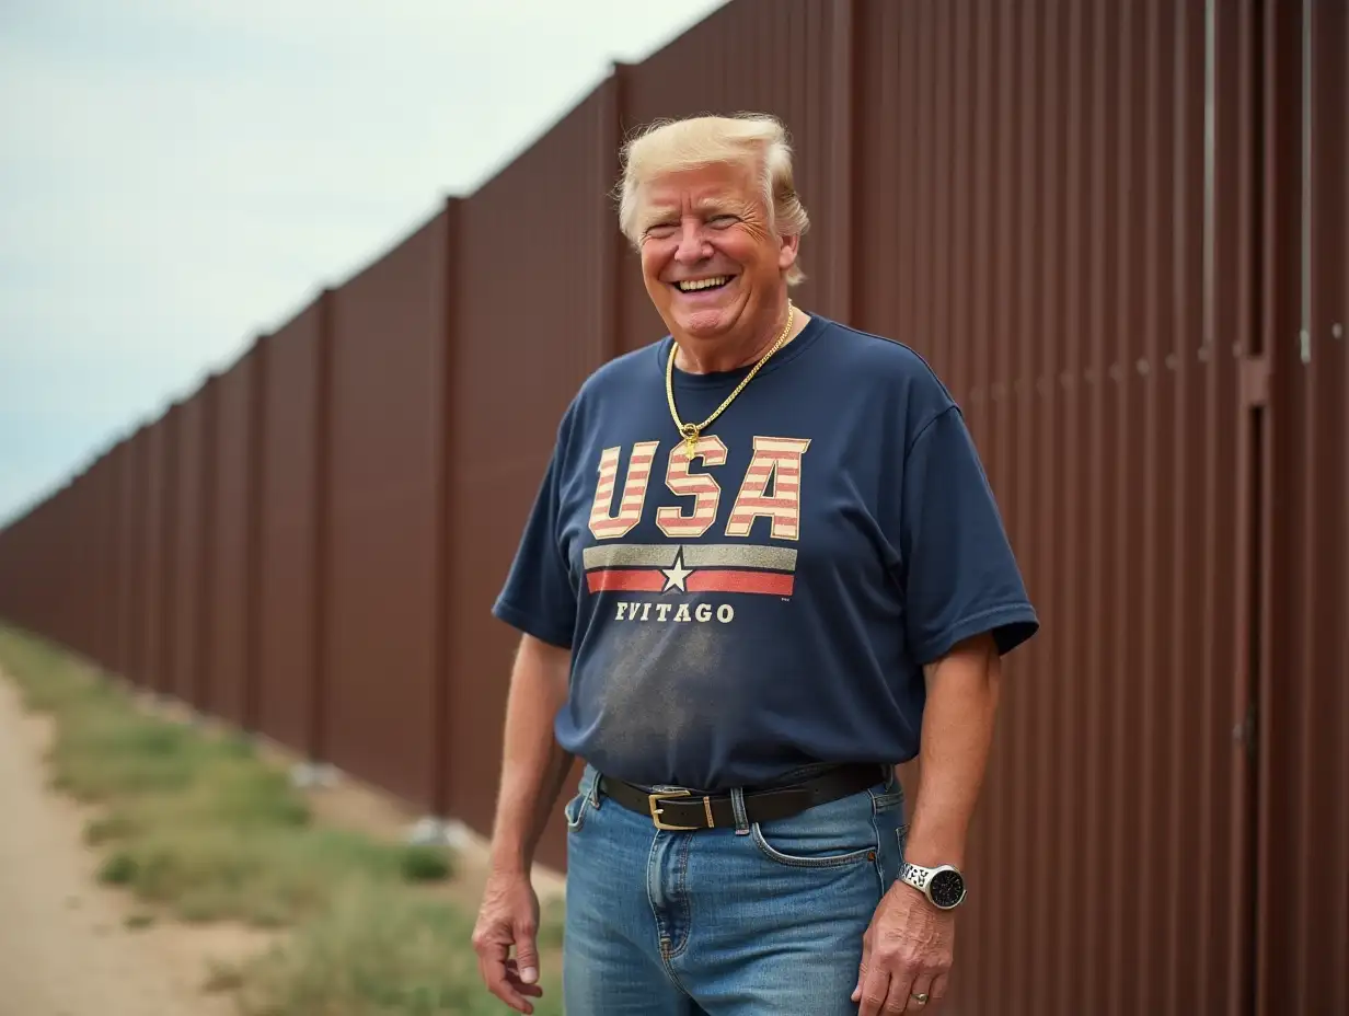
[[[928,684],[919,788],[905,859],[965,864],[966,835],[983,785],[1001,668],[992,638],[956,646],[924,669]]]

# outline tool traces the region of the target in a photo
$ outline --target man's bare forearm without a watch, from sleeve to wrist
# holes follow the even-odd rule
[[[492,827],[491,864],[496,869],[529,872],[571,769],[572,756],[553,737],[553,718],[567,700],[569,658],[565,649],[527,636],[515,654]]]

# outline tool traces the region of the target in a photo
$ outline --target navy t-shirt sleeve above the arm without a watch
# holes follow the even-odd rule
[[[576,590],[558,542],[563,457],[564,444],[558,439],[506,584],[492,604],[492,617],[544,642],[569,649],[576,627]]]

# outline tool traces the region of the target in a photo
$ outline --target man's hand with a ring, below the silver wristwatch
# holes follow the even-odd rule
[[[862,936],[862,966],[853,1001],[858,1016],[928,1016],[946,994],[955,946],[955,913],[939,911],[920,892],[896,882],[881,899]],[[927,993],[928,1001],[912,996]]]

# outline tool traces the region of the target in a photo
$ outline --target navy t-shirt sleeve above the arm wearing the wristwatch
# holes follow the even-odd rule
[[[1039,619],[959,407],[936,416],[904,464],[900,559],[909,646],[929,664],[990,631],[1008,653]]]

